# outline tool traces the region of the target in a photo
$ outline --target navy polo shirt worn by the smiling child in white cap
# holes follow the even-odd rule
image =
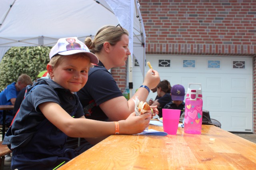
[[[34,86],[36,87],[33,89]],[[11,148],[25,146],[33,134],[37,132],[38,125],[46,119],[38,108],[40,104],[45,102],[58,103],[68,114],[74,114],[72,116],[75,118],[84,115],[77,95],[71,93],[70,90],[63,89],[52,79],[38,79],[38,82],[33,86],[27,86],[27,95],[12,124],[11,135],[5,136],[3,144],[11,144]],[[53,132],[49,133],[52,135]],[[47,138],[47,134],[45,137]],[[40,140],[47,141],[43,138]],[[64,146],[65,142],[63,140],[61,145]]]

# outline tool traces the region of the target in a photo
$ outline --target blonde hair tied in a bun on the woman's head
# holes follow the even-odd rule
[[[94,40],[87,37],[84,43],[90,49],[90,52],[95,54],[101,51],[104,42],[109,42],[110,45],[116,45],[124,34],[129,36],[128,31],[122,27],[104,26],[98,30]]]

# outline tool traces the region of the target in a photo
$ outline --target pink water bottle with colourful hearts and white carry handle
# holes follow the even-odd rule
[[[198,87],[191,89],[190,87]],[[199,83],[188,83],[188,92],[185,101],[184,132],[201,134],[202,130],[202,86]]]

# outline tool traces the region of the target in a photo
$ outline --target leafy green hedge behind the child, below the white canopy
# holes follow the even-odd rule
[[[34,81],[46,70],[52,47],[11,47],[0,62],[0,91],[24,73]]]

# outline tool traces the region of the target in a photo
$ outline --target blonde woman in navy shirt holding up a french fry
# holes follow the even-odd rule
[[[94,53],[99,63],[90,69],[87,84],[78,91],[86,118],[100,121],[119,121],[126,119],[134,112],[135,96],[140,101],[146,101],[150,89],[160,81],[157,71],[149,69],[142,86],[128,101],[122,95],[109,69],[126,64],[131,55],[128,44],[128,32],[118,26],[104,26],[98,30],[94,40],[85,39],[86,46]],[[153,73],[153,74],[152,74]],[[152,107],[155,109],[156,107]]]

